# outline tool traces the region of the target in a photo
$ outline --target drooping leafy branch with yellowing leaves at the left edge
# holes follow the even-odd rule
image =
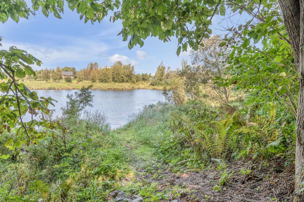
[[[0,143],[14,153],[23,144],[39,144],[39,140],[47,135],[47,129],[66,130],[59,122],[48,120],[48,106],[54,106],[55,100],[39,98],[36,92],[19,83],[19,79],[26,75],[35,75],[29,66],[33,64],[40,66],[41,61],[15,46],[9,51],[0,51],[0,79],[5,80],[0,83],[0,134],[5,131],[11,133],[15,129],[14,135],[1,139]]]

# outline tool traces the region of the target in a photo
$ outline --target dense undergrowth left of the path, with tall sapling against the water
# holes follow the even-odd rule
[[[91,102],[88,88],[68,96],[63,120],[69,133],[50,130],[39,144],[24,147],[22,155],[0,159],[0,200],[106,201],[115,180],[127,173],[127,148],[109,133],[104,114],[80,116]]]

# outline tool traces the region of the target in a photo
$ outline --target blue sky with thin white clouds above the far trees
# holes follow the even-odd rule
[[[33,69],[71,66],[79,70],[90,62],[98,62],[102,67],[120,60],[134,65],[136,73],[154,74],[161,61],[171,69],[180,67],[182,59],[190,61],[189,52],[176,55],[175,37],[166,43],[148,37],[142,48],[137,45],[129,50],[128,41],[123,42],[122,36],[117,35],[121,30],[120,22],[109,22],[109,16],[100,24],[85,24],[76,11],[65,6],[62,19],[52,14],[46,18],[41,12],[36,12],[29,20],[20,19],[18,24],[9,19],[0,24],[2,49],[16,45],[42,60],[42,66],[33,66]],[[212,21],[216,19],[217,16]]]

